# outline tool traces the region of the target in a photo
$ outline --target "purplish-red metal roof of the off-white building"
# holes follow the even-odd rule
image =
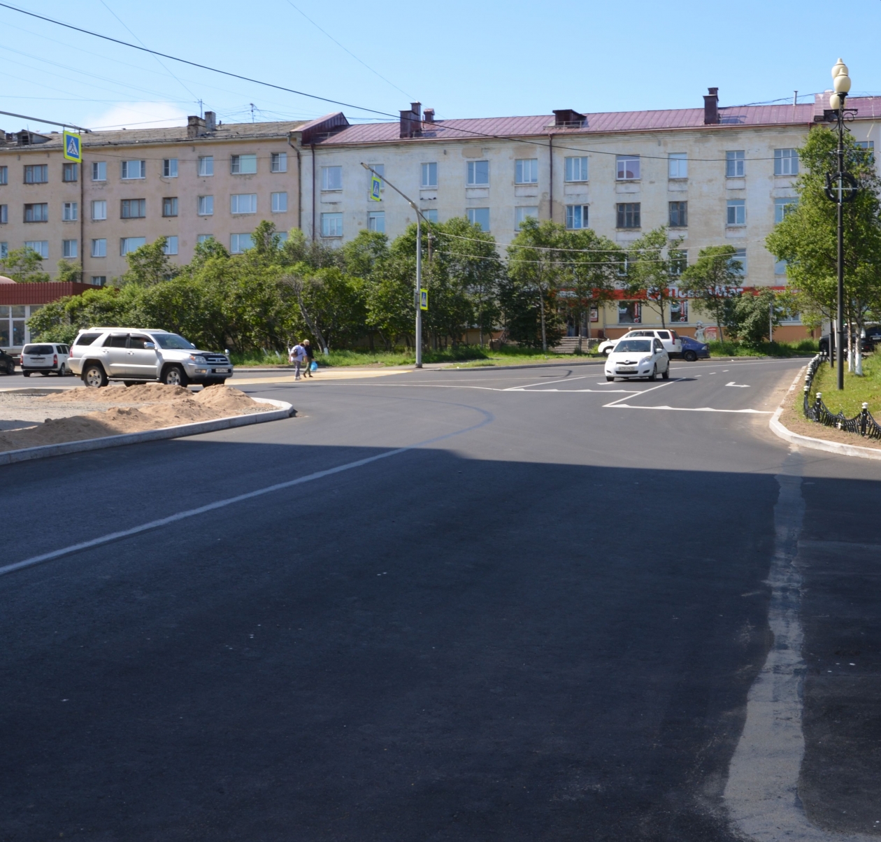
[[[481,137],[529,137],[554,135],[595,135],[608,132],[653,131],[658,129],[724,129],[727,126],[808,125],[817,105],[741,106],[719,109],[720,122],[704,125],[703,108],[670,108],[663,111],[615,111],[587,114],[584,125],[576,128],[554,126],[553,114],[527,117],[478,117],[467,120],[441,120],[422,124],[422,136],[400,137],[398,122],[374,122],[349,126],[322,140],[322,146],[341,144],[419,143],[425,140],[466,140]],[[857,119],[881,116],[881,98],[854,97],[848,107],[858,109]],[[822,108],[820,109],[822,114]]]

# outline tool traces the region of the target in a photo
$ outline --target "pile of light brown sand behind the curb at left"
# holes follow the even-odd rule
[[[75,388],[37,400],[64,401],[65,395],[71,393],[79,394],[76,398],[66,397],[68,402],[97,403],[95,395],[99,395],[108,403],[115,399],[115,403],[141,405],[113,406],[107,410],[86,412],[84,415],[47,418],[41,425],[3,432],[0,433],[0,451],[53,445],[63,441],[97,439],[126,432],[158,430],[162,427],[195,424],[199,421],[275,409],[270,404],[256,403],[244,392],[228,386],[210,386],[194,394],[189,389],[163,386],[160,383],[147,383],[125,389]]]

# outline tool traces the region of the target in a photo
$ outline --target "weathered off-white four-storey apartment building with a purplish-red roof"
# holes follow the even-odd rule
[[[590,227],[622,245],[659,225],[681,239],[693,262],[700,248],[729,244],[744,286],[786,284],[786,267],[764,246],[796,201],[796,148],[828,117],[829,94],[814,103],[664,111],[434,119],[412,103],[399,123],[349,125],[329,114],[298,132],[303,146],[303,223],[317,240],[342,242],[359,230],[402,233],[411,206],[384,188],[370,197],[372,166],[418,203],[429,219],[466,216],[504,247],[527,217]],[[854,137],[873,147],[881,99],[854,98]],[[697,316],[681,299],[665,321],[693,333]],[[591,320],[608,336],[660,321],[654,307],[621,301]],[[797,317],[783,336],[803,336]]]

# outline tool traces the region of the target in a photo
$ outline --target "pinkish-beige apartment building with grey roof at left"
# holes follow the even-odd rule
[[[300,226],[302,122],[187,126],[83,135],[83,163],[63,159],[59,133],[0,132],[0,255],[30,246],[45,269],[79,261],[86,283],[126,270],[125,255],[160,236],[189,262],[213,236],[233,252],[262,219]]]

